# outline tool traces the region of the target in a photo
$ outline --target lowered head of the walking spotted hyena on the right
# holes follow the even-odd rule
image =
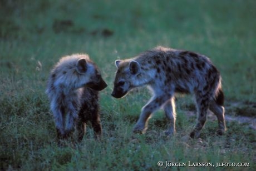
[[[114,81],[114,90],[112,96],[115,98],[124,97],[129,90],[140,86],[141,67],[136,61],[115,61],[117,72]]]

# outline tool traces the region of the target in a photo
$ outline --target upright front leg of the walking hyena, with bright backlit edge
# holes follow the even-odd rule
[[[176,121],[176,110],[175,110],[175,98],[172,97],[164,104],[165,116],[168,119],[168,129],[166,130],[166,135],[173,135],[176,133],[175,121]]]

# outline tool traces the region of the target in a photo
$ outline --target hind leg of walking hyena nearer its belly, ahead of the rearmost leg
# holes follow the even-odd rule
[[[194,130],[190,133],[191,138],[199,138],[200,131],[206,122],[206,114],[209,107],[209,97],[204,94],[196,94],[198,118]]]

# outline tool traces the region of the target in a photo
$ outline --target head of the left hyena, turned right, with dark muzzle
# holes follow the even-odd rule
[[[91,61],[87,62],[85,58],[78,59],[76,72],[79,81],[81,81],[81,86],[87,86],[98,91],[107,87],[97,66]]]

